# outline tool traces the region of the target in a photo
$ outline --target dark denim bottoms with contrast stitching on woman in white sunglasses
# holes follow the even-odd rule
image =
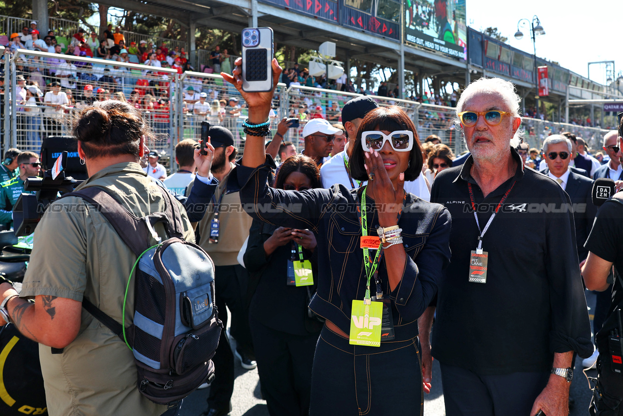
[[[417,338],[355,346],[326,326],[312,370],[310,416],[424,414]]]

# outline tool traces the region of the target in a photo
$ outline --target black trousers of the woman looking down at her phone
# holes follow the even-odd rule
[[[250,318],[262,394],[271,416],[309,414],[312,365],[320,333],[276,331]]]

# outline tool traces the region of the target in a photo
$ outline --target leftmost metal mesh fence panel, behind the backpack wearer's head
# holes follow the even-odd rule
[[[17,63],[23,64],[22,70]],[[7,88],[15,95],[5,109],[13,120],[5,150],[39,153],[45,137],[70,135],[72,120],[82,108],[114,99],[140,108],[156,136],[151,148],[171,152],[171,137],[177,133],[176,70],[30,50],[18,50],[7,64],[11,76],[6,80],[13,86]]]

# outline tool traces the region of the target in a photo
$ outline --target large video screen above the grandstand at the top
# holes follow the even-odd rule
[[[465,59],[465,0],[404,0],[404,10],[407,43]]]

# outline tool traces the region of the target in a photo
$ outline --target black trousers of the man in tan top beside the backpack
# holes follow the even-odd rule
[[[230,333],[235,338],[238,349],[252,356],[253,342],[249,329],[249,310],[243,301],[248,281],[247,269],[241,265],[214,268],[214,285],[216,286],[214,300],[219,311],[219,318],[227,328],[227,306],[232,313]],[[214,362],[216,377],[210,386],[207,402],[214,409],[229,409],[229,401],[234,393],[234,354],[226,331],[221,331],[219,346],[212,362]]]

